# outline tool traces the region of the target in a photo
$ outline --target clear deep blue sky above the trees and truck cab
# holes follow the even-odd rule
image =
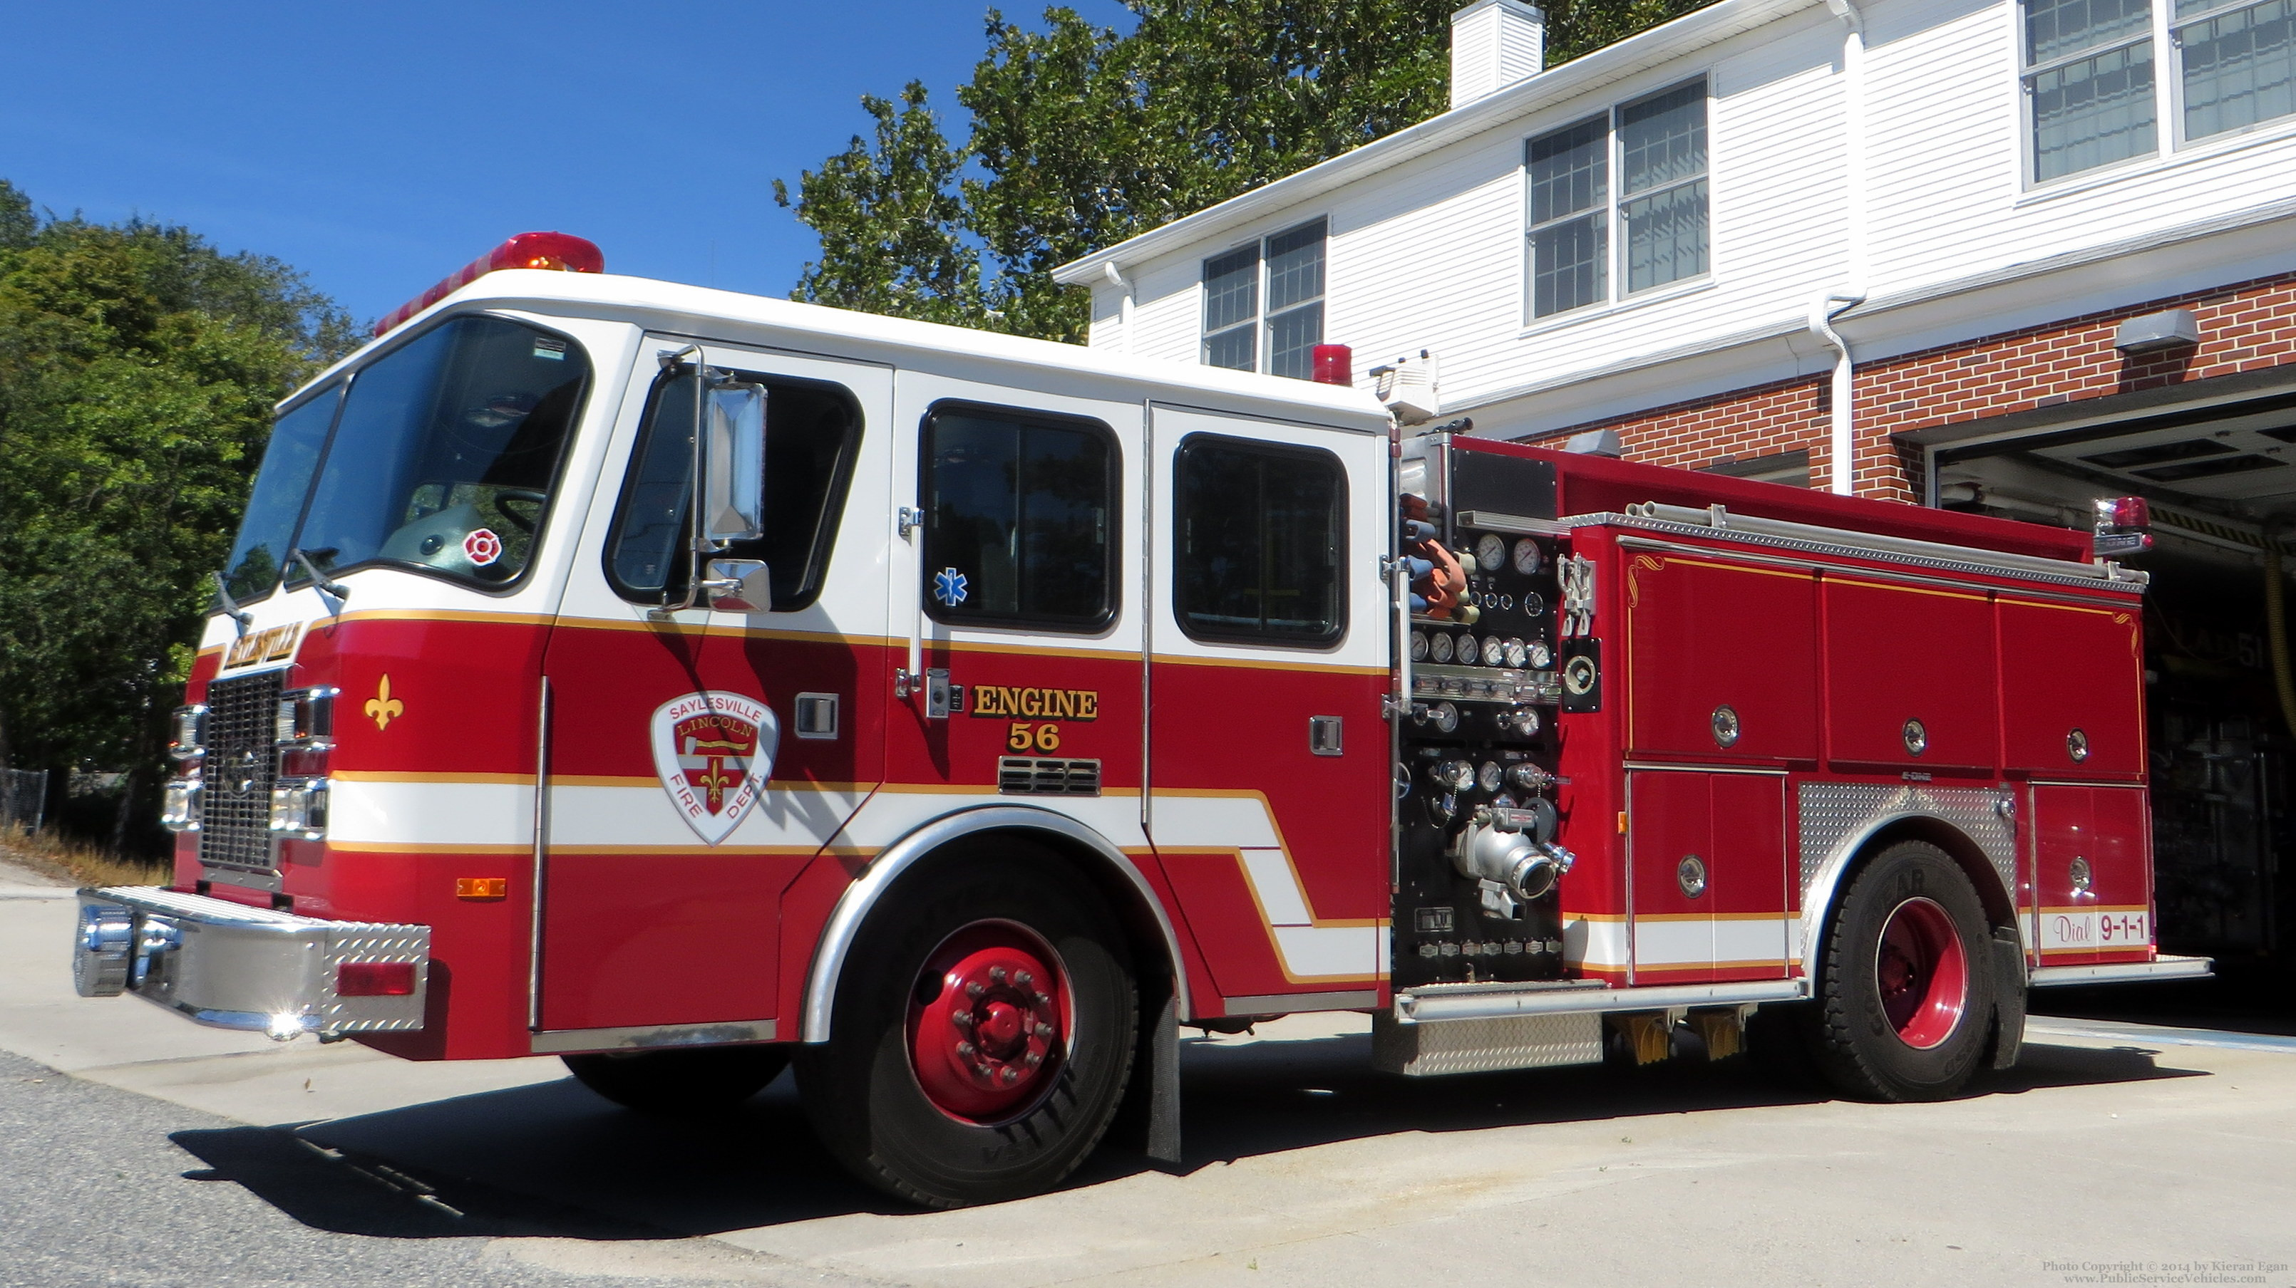
[[[861,94],[912,78],[962,135],[987,7],[16,0],[0,179],[276,255],[358,319],[526,230],[588,236],[608,271],[778,296],[815,243],[771,181],[794,188],[868,126]]]

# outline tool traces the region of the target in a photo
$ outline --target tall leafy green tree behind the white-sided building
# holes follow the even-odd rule
[[[1548,62],[1708,0],[1548,5]],[[794,298],[1081,340],[1052,269],[1440,112],[1458,0],[1125,0],[1132,32],[987,14],[951,142],[912,83],[774,195],[820,234]]]

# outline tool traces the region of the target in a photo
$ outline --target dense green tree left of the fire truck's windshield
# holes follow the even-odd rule
[[[271,404],[351,342],[276,259],[0,181],[0,765],[149,785]]]

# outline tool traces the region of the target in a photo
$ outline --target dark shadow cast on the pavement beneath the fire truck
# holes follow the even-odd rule
[[[1185,1040],[1182,1176],[1217,1162],[1403,1132],[1775,1109],[1828,1100],[1747,1058],[1587,1065],[1403,1079],[1368,1068],[1362,1033],[1251,1042]],[[2156,1052],[2027,1045],[1972,1095],[2204,1077]],[[360,1118],[174,1132],[207,1164],[321,1231],[374,1237],[661,1240],[854,1212],[907,1212],[850,1180],[815,1143],[788,1074],[739,1111],[647,1118],[572,1079],[461,1095]],[[1102,1148],[1068,1180],[1148,1171]]]

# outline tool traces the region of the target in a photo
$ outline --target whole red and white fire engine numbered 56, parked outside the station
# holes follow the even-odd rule
[[[80,990],[631,1107],[794,1063],[955,1205],[1125,1107],[1178,1157],[1182,1024],[1366,1012],[1444,1074],[1777,1008],[1929,1100],[2027,987],[2206,973],[2089,533],[1405,432],[1322,365],[512,239],[280,406],[174,882],[80,893]]]

